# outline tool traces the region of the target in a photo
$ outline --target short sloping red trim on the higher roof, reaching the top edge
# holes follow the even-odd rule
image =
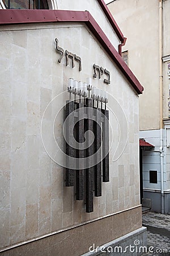
[[[97,1],[99,2],[99,5],[101,6],[102,10],[104,11],[105,15],[107,16],[109,22],[111,23],[111,26],[113,27],[113,30],[116,32],[118,38],[121,40],[122,43],[124,43],[124,35],[122,34],[120,28],[118,27],[116,20],[113,18],[112,14],[109,11],[104,0],[97,0]]]

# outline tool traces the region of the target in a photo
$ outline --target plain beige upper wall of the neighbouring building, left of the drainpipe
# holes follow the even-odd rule
[[[159,129],[159,1],[117,0],[108,7],[128,38],[122,51],[128,50],[129,67],[144,87],[139,129]]]

